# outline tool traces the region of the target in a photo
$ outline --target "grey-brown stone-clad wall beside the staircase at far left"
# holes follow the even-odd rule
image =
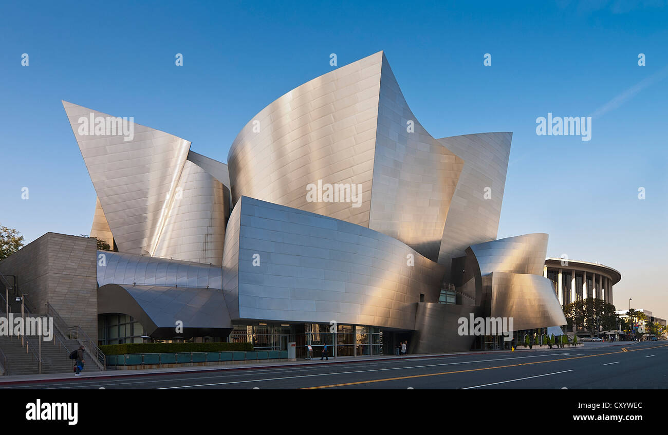
[[[37,313],[49,302],[68,326],[81,326],[97,342],[96,256],[96,239],[49,232],[0,262],[0,273],[17,276]]]

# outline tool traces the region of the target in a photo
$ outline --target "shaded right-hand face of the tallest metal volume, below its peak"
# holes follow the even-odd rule
[[[415,118],[383,56],[369,228],[436,261],[463,166]]]

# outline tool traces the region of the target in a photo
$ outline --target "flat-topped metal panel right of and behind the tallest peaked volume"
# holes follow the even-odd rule
[[[438,141],[464,159],[438,256],[450,276],[452,259],[464,256],[468,246],[496,240],[512,133],[477,133]]]

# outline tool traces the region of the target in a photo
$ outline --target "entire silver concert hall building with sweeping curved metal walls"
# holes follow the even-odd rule
[[[483,346],[458,333],[471,314],[566,324],[548,236],[496,238],[512,133],[432,137],[383,52],[267,105],[227,163],[139,124],[82,134],[81,117],[114,117],[63,105],[98,195],[90,236],[110,246],[91,258],[101,344],[428,353]],[[118,314],[136,327],[107,336]]]

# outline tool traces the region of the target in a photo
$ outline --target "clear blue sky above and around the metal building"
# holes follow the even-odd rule
[[[499,238],[546,232],[549,256],[622,273],[619,308],[633,297],[667,318],[668,2],[360,3],[3,3],[0,223],[27,242],[90,232],[96,194],[61,99],[226,161],[243,125],[330,71],[330,53],[340,67],[384,50],[434,137],[514,132]],[[602,108],[591,141],[535,133],[548,112]]]

